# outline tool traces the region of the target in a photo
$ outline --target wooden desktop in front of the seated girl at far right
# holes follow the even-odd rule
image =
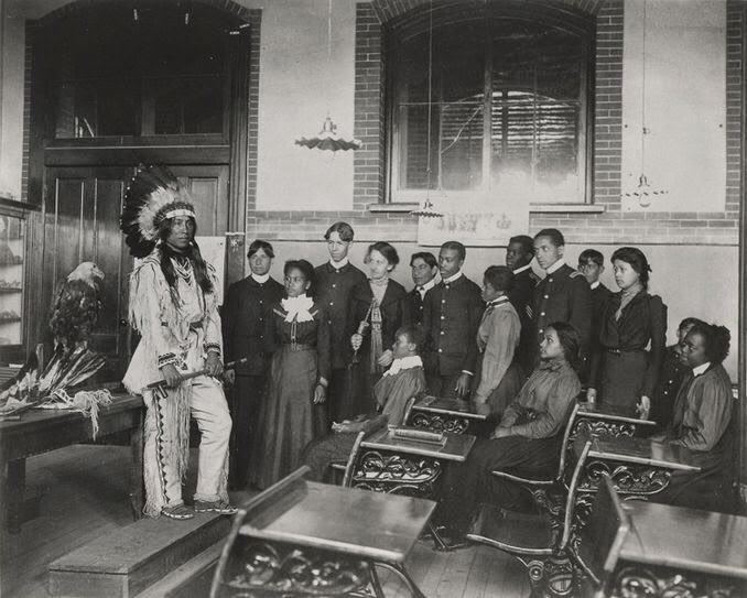
[[[588,453],[589,458],[637,463],[668,469],[700,471],[693,453],[679,445],[648,438],[596,438]]]

